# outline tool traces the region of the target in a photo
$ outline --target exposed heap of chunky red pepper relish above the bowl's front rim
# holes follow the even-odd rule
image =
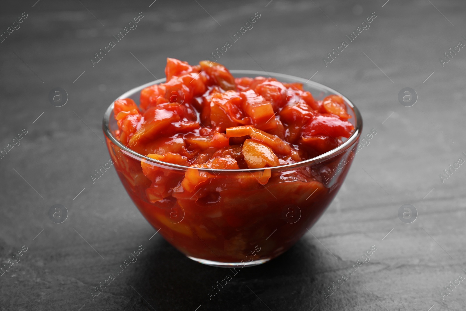
[[[223,65],[168,58],[167,82],[118,99],[117,138],[173,164],[214,169],[280,166],[334,149],[354,127],[338,95],[315,101],[301,83],[234,78]]]

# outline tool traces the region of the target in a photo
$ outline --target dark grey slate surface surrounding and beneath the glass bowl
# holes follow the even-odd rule
[[[466,276],[466,165],[439,178],[466,159],[466,49],[439,61],[466,43],[464,1],[268,1],[1,4],[2,32],[27,14],[0,43],[0,148],[27,131],[0,160],[1,262],[27,251],[0,276],[0,310],[465,310],[465,282],[440,293]],[[139,12],[137,28],[93,68],[94,53]],[[163,76],[167,56],[208,58],[256,12],[254,28],[219,61],[304,78],[318,71],[313,80],[352,99],[363,133],[377,134],[312,234],[241,270],[209,300],[229,271],[191,261],[159,235],[149,240],[155,230],[117,174],[95,184],[90,174],[109,159],[101,119],[113,99]],[[323,57],[372,12],[370,28],[325,67]],[[55,87],[69,95],[62,107],[48,101]],[[405,87],[418,94],[412,107],[398,102]],[[48,217],[54,204],[69,211],[62,224]],[[400,221],[403,204],[416,207],[416,221]],[[139,245],[137,262],[93,301],[93,287]],[[325,288],[371,245],[370,262],[326,300]]]

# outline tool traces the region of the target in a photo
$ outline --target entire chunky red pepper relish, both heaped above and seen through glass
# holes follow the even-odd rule
[[[131,198],[189,256],[239,262],[255,245],[261,251],[254,259],[278,256],[322,214],[347,168],[332,187],[330,164],[342,157],[319,167],[267,168],[313,158],[349,138],[354,126],[343,97],[318,101],[301,83],[234,78],[207,61],[191,66],[168,58],[165,74],[165,83],[141,91],[139,106],[130,98],[115,101],[114,135],[149,158],[189,168],[112,154]],[[227,171],[251,168],[264,170]],[[301,222],[284,218],[287,204],[299,209]]]

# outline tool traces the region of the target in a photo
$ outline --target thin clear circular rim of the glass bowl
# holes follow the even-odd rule
[[[281,166],[231,170],[231,169],[213,169],[213,168],[202,168],[202,167],[193,167],[193,166],[182,166],[182,165],[173,164],[173,163],[169,163],[169,162],[159,161],[159,160],[152,159],[152,158],[149,158],[147,156],[144,156],[143,154],[135,152],[134,150],[126,147],[125,145],[123,145],[111,133],[110,128],[109,128],[109,123],[110,123],[110,115],[111,115],[111,113],[113,111],[113,106],[114,106],[115,101],[117,99],[130,97],[131,95],[134,95],[135,93],[140,92],[144,88],[149,87],[151,85],[158,84],[158,83],[164,83],[166,81],[166,78],[162,78],[162,79],[157,79],[157,80],[151,81],[149,83],[145,83],[143,85],[137,86],[137,87],[135,87],[135,88],[133,88],[131,90],[128,90],[125,93],[123,93],[122,95],[120,95],[119,97],[117,97],[117,99],[112,101],[112,103],[107,108],[107,110],[105,111],[105,114],[103,116],[103,122],[102,122],[103,133],[105,134],[105,136],[107,138],[110,139],[111,142],[113,142],[115,145],[117,145],[123,151],[123,153],[125,153],[126,155],[130,156],[131,158],[134,158],[134,159],[137,159],[137,160],[145,159],[146,163],[147,163],[147,161],[149,161],[149,162],[157,164],[158,166],[168,166],[168,167],[171,167],[171,168],[176,168],[176,169],[181,169],[181,170],[187,170],[188,168],[191,168],[191,169],[197,169],[197,170],[203,171],[203,172],[232,172],[232,173],[233,172],[236,172],[236,173],[240,173],[240,172],[243,172],[243,173],[262,172],[262,171],[265,171],[267,169],[274,171],[274,170],[282,170],[282,169],[293,168],[293,167],[296,167],[296,166],[308,166],[308,165],[312,165],[312,164],[317,164],[317,163],[320,163],[320,162],[323,162],[325,160],[331,159],[332,157],[335,157],[335,156],[345,152],[351,145],[353,145],[353,143],[355,143],[357,141],[357,139],[361,135],[361,131],[362,131],[362,128],[363,128],[363,118],[361,116],[361,113],[359,112],[359,109],[357,109],[356,105],[353,104],[343,94],[341,94],[340,92],[337,92],[336,90],[334,90],[334,89],[332,89],[332,88],[330,88],[330,87],[328,87],[328,86],[326,86],[324,84],[317,83],[315,81],[310,81],[310,79],[306,80],[304,78],[300,78],[300,77],[297,77],[297,76],[291,76],[291,75],[281,74],[281,73],[276,73],[276,72],[266,72],[266,71],[260,71],[260,70],[247,70],[247,69],[231,69],[229,71],[232,74],[251,74],[251,75],[257,75],[257,76],[272,76],[272,77],[278,77],[278,78],[291,79],[291,80],[295,80],[296,82],[300,82],[300,83],[303,83],[303,84],[314,86],[316,88],[327,90],[327,91],[331,92],[332,94],[340,95],[340,96],[343,97],[343,99],[346,101],[346,103],[354,111],[354,115],[355,115],[355,118],[356,118],[355,130],[351,134],[351,136],[349,136],[349,138],[346,139],[343,142],[343,144],[337,146],[336,148],[334,148],[334,149],[332,149],[332,150],[330,150],[328,152],[322,153],[321,155],[316,156],[316,157],[311,158],[311,159],[306,159],[306,160],[303,160],[303,161],[300,161],[300,162],[281,165]]]

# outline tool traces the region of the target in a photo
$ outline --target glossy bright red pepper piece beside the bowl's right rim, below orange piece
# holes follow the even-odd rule
[[[353,130],[353,124],[348,121],[340,120],[332,115],[319,115],[303,127],[302,134],[303,136],[327,135],[333,138],[348,138]]]

